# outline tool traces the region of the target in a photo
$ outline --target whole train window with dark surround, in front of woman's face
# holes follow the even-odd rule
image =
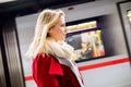
[[[107,16],[103,15],[67,23],[68,34],[66,41],[74,47],[73,60],[81,62],[111,55],[109,54],[111,53],[110,50],[105,49],[102,35],[103,29],[108,25],[108,22],[105,22]]]

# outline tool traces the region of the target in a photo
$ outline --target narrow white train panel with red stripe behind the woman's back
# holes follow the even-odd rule
[[[36,84],[32,77],[33,59],[26,57],[26,51],[34,37],[37,15],[38,13],[25,15],[25,16],[17,16],[15,18],[16,32],[19,38],[17,40],[20,45],[20,53],[22,59],[23,72],[24,72],[24,82],[26,87],[36,87]]]

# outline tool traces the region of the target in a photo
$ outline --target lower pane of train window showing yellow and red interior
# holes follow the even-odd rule
[[[78,60],[105,55],[100,33],[102,30],[85,32],[67,37],[67,42],[75,49]]]

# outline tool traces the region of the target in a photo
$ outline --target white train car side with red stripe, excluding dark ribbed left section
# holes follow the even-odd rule
[[[73,5],[71,11],[68,7],[61,8],[67,14],[67,42],[75,49],[73,60],[78,62],[86,87],[131,86],[129,57],[116,2],[83,3]],[[26,59],[25,52],[33,39],[37,15],[16,17],[26,87],[36,87],[32,60]]]

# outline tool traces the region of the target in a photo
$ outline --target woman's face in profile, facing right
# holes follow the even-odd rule
[[[56,41],[63,41],[66,39],[67,28],[64,17],[61,16],[60,21],[49,30],[49,35]]]

